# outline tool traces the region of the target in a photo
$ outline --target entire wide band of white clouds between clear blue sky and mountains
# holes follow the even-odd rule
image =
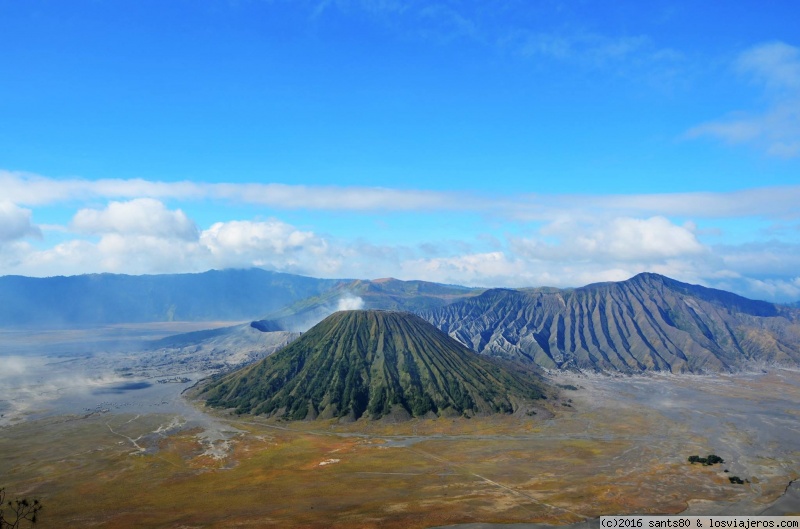
[[[596,196],[462,192],[454,200],[454,193],[440,191],[62,182],[11,172],[0,173],[0,181],[21,204],[0,202],[2,274],[183,273],[256,266],[329,278],[568,287],[651,271],[755,298],[800,299],[800,186]],[[49,195],[31,198],[29,187],[48,189]],[[138,193],[144,196],[126,198]],[[76,201],[92,206],[77,208],[64,225],[35,224],[37,211]],[[168,205],[201,201],[268,202],[272,215],[200,226],[183,208]],[[456,238],[449,240],[423,233],[410,242],[378,242],[370,236],[373,208],[401,215],[401,226],[402,219],[412,218],[405,215],[434,227],[457,214],[482,219],[484,228],[458,231],[456,226]],[[296,210],[323,211],[322,220],[300,228],[280,218],[281,211]],[[328,232],[326,219],[339,213],[364,219],[358,235]],[[744,240],[727,240],[725,222],[742,219],[755,219],[763,228]]]

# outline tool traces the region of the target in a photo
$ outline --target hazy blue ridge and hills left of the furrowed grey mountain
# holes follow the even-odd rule
[[[480,292],[425,281],[317,279],[259,268],[143,276],[0,276],[0,326],[265,318],[282,329],[301,331],[336,310],[356,308],[348,305],[355,301],[363,308],[414,311]]]

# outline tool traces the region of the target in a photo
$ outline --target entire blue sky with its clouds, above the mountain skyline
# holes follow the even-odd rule
[[[0,0],[0,274],[800,299],[794,2]]]

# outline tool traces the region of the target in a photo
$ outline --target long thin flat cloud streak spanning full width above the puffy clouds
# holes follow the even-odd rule
[[[152,233],[153,225],[141,218],[148,208],[166,229],[189,235],[191,226],[181,212],[158,211],[163,200],[210,200],[226,204],[252,204],[279,210],[374,212],[461,211],[521,221],[552,221],[565,212],[594,218],[597,215],[638,217],[691,216],[695,218],[800,216],[800,185],[757,187],[733,192],[690,192],[631,195],[486,193],[392,189],[381,187],[335,187],[285,184],[205,184],[153,182],[148,180],[60,180],[0,170],[0,188],[7,200],[28,206],[70,203],[76,200],[130,200],[124,207],[138,220],[122,220],[123,206],[96,212],[85,210],[76,218],[77,228],[91,230],[96,224],[106,231],[123,228],[120,223],[138,222],[141,233]],[[142,199],[154,199],[143,201]],[[27,211],[27,210],[21,210]],[[171,215],[169,219],[166,216]],[[127,229],[127,227],[126,227]]]

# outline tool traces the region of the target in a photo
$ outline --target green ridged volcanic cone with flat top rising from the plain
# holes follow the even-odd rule
[[[337,312],[261,362],[206,386],[211,406],[290,419],[511,413],[543,384],[482,358],[423,319]]]

